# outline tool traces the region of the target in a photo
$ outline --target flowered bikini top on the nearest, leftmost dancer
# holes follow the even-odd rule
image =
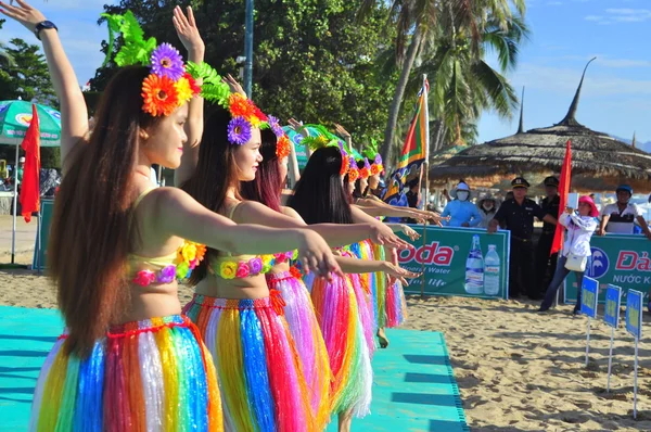
[[[133,211],[146,194],[155,188],[149,188],[133,202]],[[175,279],[181,281],[189,278],[192,270],[204,258],[206,246],[188,240],[179,249],[165,256],[140,256],[129,254],[129,274],[131,282],[140,287],[152,283],[171,283]]]

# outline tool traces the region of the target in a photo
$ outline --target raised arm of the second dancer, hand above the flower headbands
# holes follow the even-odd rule
[[[188,7],[188,16],[186,16],[181,8],[176,7],[171,21],[181,43],[188,50],[188,60],[196,64],[202,63],[206,48],[199,34],[199,28],[196,28],[192,8]],[[201,85],[201,80],[197,80],[197,84]],[[192,98],[188,103],[188,122],[186,123],[188,141],[183,144],[181,165],[174,171],[174,183],[177,187],[188,181],[196,169],[199,144],[203,136],[203,105],[204,100],[199,96]]]

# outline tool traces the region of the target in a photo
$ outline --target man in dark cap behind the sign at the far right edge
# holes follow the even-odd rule
[[[642,212],[635,203],[630,202],[633,188],[628,185],[621,185],[615,192],[617,202],[607,205],[601,211],[601,224],[597,233],[599,236],[604,236],[607,232],[633,234],[635,220],[637,220],[644,236],[651,240],[651,232]]]

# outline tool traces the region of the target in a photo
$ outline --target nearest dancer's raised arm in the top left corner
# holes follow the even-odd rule
[[[47,21],[46,16],[23,0],[15,2],[17,5],[0,1],[0,12],[23,24],[34,34],[36,25]],[[39,36],[48,61],[50,79],[61,105],[61,163],[65,173],[67,156],[88,134],[88,110],[58,30],[43,29]]]

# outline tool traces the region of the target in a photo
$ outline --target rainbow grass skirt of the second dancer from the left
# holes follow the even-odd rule
[[[315,430],[301,358],[277,296],[195,294],[184,313],[215,359],[227,430]]]

